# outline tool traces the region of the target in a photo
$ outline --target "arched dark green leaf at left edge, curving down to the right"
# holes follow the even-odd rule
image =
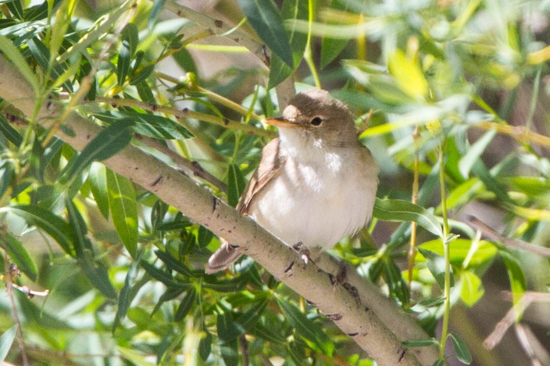
[[[15,215],[23,217],[27,223],[44,230],[65,253],[74,255],[72,240],[67,236],[70,233],[69,224],[61,217],[52,212],[43,209],[37,205],[14,205],[0,208],[0,212],[12,212]]]

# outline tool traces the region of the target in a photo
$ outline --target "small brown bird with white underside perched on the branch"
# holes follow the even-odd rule
[[[326,90],[311,88],[290,99],[282,117],[265,122],[277,126],[279,136],[263,148],[237,210],[285,244],[306,250],[330,249],[365,227],[378,166],[359,142],[348,107]],[[221,271],[241,255],[238,246],[223,240],[205,272]]]

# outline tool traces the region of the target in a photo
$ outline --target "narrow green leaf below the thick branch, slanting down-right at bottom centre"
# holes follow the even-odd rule
[[[288,322],[298,331],[298,334],[305,339],[310,340],[322,352],[332,356],[334,352],[334,342],[324,333],[321,326],[300,312],[300,310],[287,300],[277,298],[277,304]]]

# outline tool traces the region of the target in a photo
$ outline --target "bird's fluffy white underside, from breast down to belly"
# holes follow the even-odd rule
[[[328,249],[372,215],[378,169],[366,149],[287,157],[284,171],[249,210],[288,245]]]

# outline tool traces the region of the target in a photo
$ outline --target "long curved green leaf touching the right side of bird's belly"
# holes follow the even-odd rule
[[[415,221],[430,233],[443,237],[437,218],[425,208],[409,201],[376,198],[372,216],[385,221]]]

